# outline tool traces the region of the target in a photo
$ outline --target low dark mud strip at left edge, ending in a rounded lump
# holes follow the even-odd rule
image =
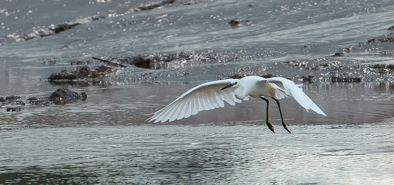
[[[0,97],[0,107],[4,107],[7,112],[21,111],[25,106],[62,105],[73,103],[78,100],[85,101],[86,99],[87,95],[85,92],[78,94],[70,89],[58,88],[49,97],[29,97],[27,99],[19,96]]]

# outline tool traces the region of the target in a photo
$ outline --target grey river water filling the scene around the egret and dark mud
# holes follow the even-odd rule
[[[149,5],[159,7],[142,10]],[[392,15],[392,1],[1,1],[0,97],[48,97],[66,87],[88,98],[17,112],[2,105],[0,184],[393,184],[394,79],[371,80],[353,67],[394,64],[392,41],[368,42],[392,35]],[[195,60],[158,70],[130,65],[100,83],[46,80],[74,69],[71,61],[180,52]],[[337,52],[345,54],[326,57]],[[365,80],[332,82],[325,69],[289,68],[288,60],[341,64]],[[145,122],[193,86],[240,71],[297,83],[316,76],[303,88],[327,116],[281,100],[290,134],[271,103],[272,133],[264,101],[250,99]]]

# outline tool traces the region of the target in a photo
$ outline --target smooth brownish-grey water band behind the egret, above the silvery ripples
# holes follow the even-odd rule
[[[394,100],[390,88],[374,83],[314,83],[304,84],[304,91],[327,114],[307,113],[292,99],[282,100],[282,111],[289,125],[360,124],[393,116]],[[103,86],[76,89],[85,92],[86,101],[66,105],[24,106],[19,112],[0,111],[0,130],[15,128],[80,127],[106,125],[145,125],[145,119],[184,91],[196,85],[169,84],[140,86]],[[177,92],[174,94],[174,92]],[[47,94],[50,94],[49,92]],[[27,95],[26,97],[30,97]],[[295,107],[296,109],[294,109]],[[7,106],[2,107],[7,108]],[[190,118],[166,124],[175,125],[264,125],[262,112],[265,105],[257,99],[244,101],[236,106],[202,111]],[[270,111],[271,122],[280,124],[275,105]],[[218,116],[219,115],[219,116]],[[156,124],[153,124],[156,125]],[[275,126],[281,129],[280,125]]]

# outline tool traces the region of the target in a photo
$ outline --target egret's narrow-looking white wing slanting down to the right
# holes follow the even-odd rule
[[[307,111],[313,110],[318,114],[326,116],[324,112],[304,93],[300,85],[294,84],[291,80],[282,77],[272,77],[262,80],[278,85],[285,93],[294,98]]]

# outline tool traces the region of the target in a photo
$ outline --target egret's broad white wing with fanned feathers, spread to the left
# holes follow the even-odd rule
[[[153,113],[153,116],[147,120],[155,123],[167,120],[174,121],[175,119],[179,120],[195,115],[203,110],[224,107],[224,101],[230,105],[235,105],[235,102],[241,103],[242,101],[234,96],[234,88],[220,90],[222,87],[230,84],[232,80],[217,80],[195,86],[171,102],[171,104]]]

